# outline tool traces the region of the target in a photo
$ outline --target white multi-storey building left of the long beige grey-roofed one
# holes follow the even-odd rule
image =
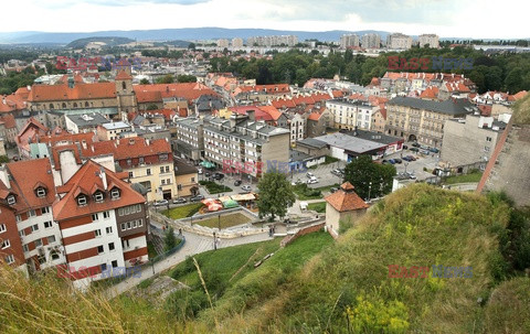
[[[372,106],[363,100],[330,99],[326,101],[326,108],[333,115],[333,123],[337,129],[354,129],[356,127],[370,130],[372,115],[379,110],[379,106]]]

